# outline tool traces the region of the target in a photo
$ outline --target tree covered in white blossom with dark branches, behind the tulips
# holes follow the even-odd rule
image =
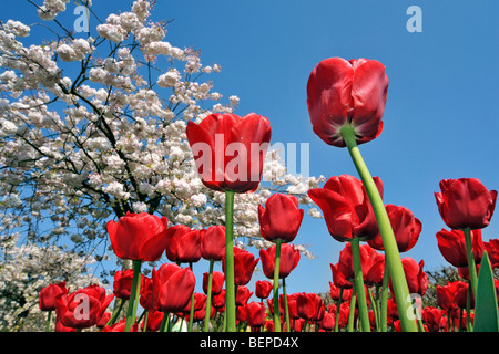
[[[0,28],[2,248],[10,238],[43,247],[70,239],[74,252],[100,261],[105,222],[126,212],[195,228],[223,223],[224,194],[201,183],[185,136],[189,121],[237,107],[238,97],[224,103],[207,80],[221,65],[167,42],[167,23],[151,19],[150,1],[105,21],[94,15],[99,24],[84,35],[58,21],[69,0],[28,2],[43,23]],[[33,28],[51,40],[24,44]],[[256,192],[236,196],[234,210],[235,237],[257,247],[257,206],[277,190],[309,204],[307,190],[324,180],[288,174],[276,150],[263,179]]]

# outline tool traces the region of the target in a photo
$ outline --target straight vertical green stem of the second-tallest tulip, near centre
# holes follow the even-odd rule
[[[225,190],[225,313],[226,330],[235,332],[234,191]]]

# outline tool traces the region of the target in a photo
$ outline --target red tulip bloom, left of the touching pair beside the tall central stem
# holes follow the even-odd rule
[[[201,231],[184,225],[169,229],[166,258],[176,263],[197,262],[201,259]]]

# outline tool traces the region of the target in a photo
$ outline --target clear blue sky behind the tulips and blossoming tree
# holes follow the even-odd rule
[[[131,3],[93,2],[103,20]],[[152,18],[174,20],[166,41],[201,49],[203,63],[222,65],[222,73],[211,77],[214,91],[241,98],[235,113],[268,117],[272,143],[310,144],[310,175],[357,176],[346,149],[326,145],[312,132],[306,107],[310,71],[330,56],[384,63],[390,81],[385,128],[360,152],[371,175],[384,181],[385,202],[409,208],[422,222],[419,242],[403,257],[424,259],[430,270],[447,264],[435,237],[445,227],[434,197],[440,179],[476,177],[499,189],[499,2],[157,2]],[[406,30],[406,10],[414,4],[422,10],[420,33]],[[61,19],[74,17],[72,7]],[[1,20],[7,19],[38,21],[23,1],[2,3]],[[483,230],[483,240],[499,238],[498,218]],[[337,262],[345,244],[332,239],[323,219],[308,216],[296,242],[308,244],[316,259],[302,258],[287,280],[288,293],[328,291],[329,263]],[[196,267],[207,271],[207,264]],[[258,279],[264,275],[255,274],[249,288]]]

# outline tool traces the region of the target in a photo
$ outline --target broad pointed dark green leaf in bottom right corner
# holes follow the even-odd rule
[[[487,252],[483,252],[478,272],[473,332],[499,332],[496,287]]]

